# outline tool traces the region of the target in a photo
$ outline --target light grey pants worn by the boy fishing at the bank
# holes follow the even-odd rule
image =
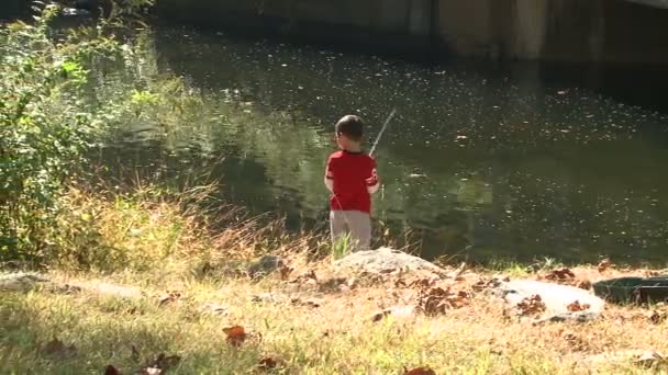
[[[332,243],[350,235],[350,250],[369,250],[371,245],[371,216],[360,211],[332,211],[330,213]]]

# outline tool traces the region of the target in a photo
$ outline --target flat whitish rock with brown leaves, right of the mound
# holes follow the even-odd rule
[[[589,321],[598,318],[605,302],[593,294],[578,287],[543,283],[533,280],[515,280],[503,282],[494,291],[511,306],[516,306],[524,298],[541,296],[545,304],[545,312],[536,322],[577,320]],[[569,306],[578,302],[586,309],[572,311]]]

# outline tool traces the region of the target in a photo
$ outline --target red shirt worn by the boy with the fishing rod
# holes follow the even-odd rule
[[[379,185],[376,160],[364,152],[336,151],[327,160],[325,184],[332,191],[332,211],[370,213]]]

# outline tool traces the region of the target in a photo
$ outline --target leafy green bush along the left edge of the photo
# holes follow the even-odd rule
[[[91,67],[122,60],[130,48],[111,30],[140,3],[65,34],[52,26],[56,4],[0,29],[0,259],[40,259],[57,231],[64,184],[113,117],[90,98]]]

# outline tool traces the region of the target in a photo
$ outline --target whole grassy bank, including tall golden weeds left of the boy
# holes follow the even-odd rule
[[[279,224],[260,225],[238,209],[213,215],[203,191],[69,190],[62,219],[81,223],[63,234],[69,251],[45,271],[57,287],[0,292],[0,373],[100,374],[112,365],[132,374],[157,365],[175,374],[401,374],[404,366],[436,374],[636,374],[649,370],[631,354],[615,355],[668,352],[665,307],[609,306],[593,322],[534,326],[475,287],[496,273],[485,269],[437,282],[466,292],[445,314],[411,311],[419,276],[342,274],[316,251],[318,238],[285,235]],[[249,280],[241,271],[264,253],[285,257],[292,272]],[[550,266],[506,271],[536,279]],[[571,284],[649,273],[572,271]],[[393,306],[403,308],[378,315]],[[229,339],[234,326],[245,329],[244,340]],[[162,353],[178,361],[156,363]],[[274,361],[272,370],[259,366]]]

